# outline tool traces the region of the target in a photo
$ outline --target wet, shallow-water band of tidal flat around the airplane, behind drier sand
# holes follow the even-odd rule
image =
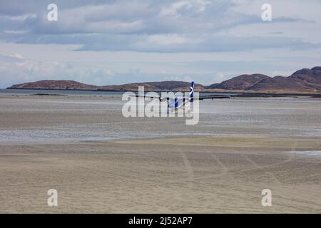
[[[198,125],[185,118],[124,118],[121,98],[1,98],[0,141],[116,140],[193,135],[321,137],[321,100],[200,101]]]

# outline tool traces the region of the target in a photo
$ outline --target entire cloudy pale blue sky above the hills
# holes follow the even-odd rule
[[[0,0],[0,88],[290,76],[321,66],[320,15],[320,0]]]

